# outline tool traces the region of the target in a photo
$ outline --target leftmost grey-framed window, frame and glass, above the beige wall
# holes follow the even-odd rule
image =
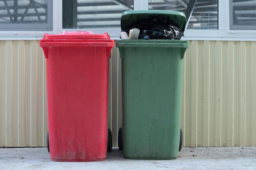
[[[0,31],[52,31],[52,0],[1,0]]]

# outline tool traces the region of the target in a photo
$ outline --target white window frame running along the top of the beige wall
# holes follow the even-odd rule
[[[219,0],[218,30],[189,30],[184,31],[184,40],[230,40],[256,41],[256,30],[230,30],[229,28],[229,0]],[[1,31],[0,39],[42,39],[45,33],[58,34],[61,31],[92,31],[102,34],[108,33],[112,39],[119,39],[121,29],[62,29],[62,0],[53,0],[53,31]],[[134,10],[147,10],[148,0],[134,0]]]

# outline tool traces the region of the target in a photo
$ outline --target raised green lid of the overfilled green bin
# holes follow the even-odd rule
[[[148,19],[149,16],[162,16],[176,22],[182,32],[186,26],[186,15],[178,11],[146,10],[146,11],[124,11],[121,16],[121,29],[126,30],[128,26],[139,20]]]

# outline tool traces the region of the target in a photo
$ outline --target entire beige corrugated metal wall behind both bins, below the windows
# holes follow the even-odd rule
[[[256,41],[190,41],[184,57],[183,146],[256,146]],[[121,59],[110,59],[109,127],[122,123]],[[39,41],[0,41],[0,147],[46,146]]]

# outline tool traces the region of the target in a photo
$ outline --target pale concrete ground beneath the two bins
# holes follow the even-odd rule
[[[131,160],[113,148],[105,161],[54,162],[47,148],[0,148],[1,170],[256,170],[256,147],[182,148],[176,160]]]

